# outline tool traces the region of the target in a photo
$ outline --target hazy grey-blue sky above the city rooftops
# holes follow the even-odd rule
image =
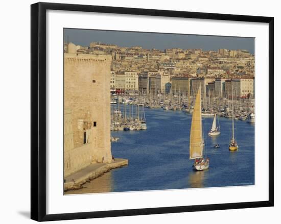
[[[89,46],[92,41],[101,41],[107,44],[119,46],[142,46],[143,48],[202,48],[204,51],[219,48],[247,49],[254,54],[254,38],[202,36],[188,34],[161,34],[124,31],[80,30],[64,29],[64,41],[73,42],[76,45]]]

